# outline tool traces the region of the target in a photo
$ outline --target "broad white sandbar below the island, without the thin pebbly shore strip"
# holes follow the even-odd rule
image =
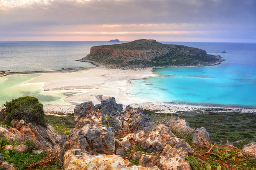
[[[47,91],[48,94],[60,90],[82,90],[80,93],[65,97],[65,102],[82,103],[93,101],[94,104],[99,104],[102,99],[108,99],[113,96],[116,98],[116,102],[129,105],[132,103],[151,102],[128,94],[131,88],[130,80],[147,77],[157,77],[157,75],[152,73],[151,68],[136,71],[90,68],[86,71],[70,73],[44,73],[27,83],[44,84],[43,90]],[[74,106],[44,105],[44,110],[47,112],[70,113],[73,108]]]

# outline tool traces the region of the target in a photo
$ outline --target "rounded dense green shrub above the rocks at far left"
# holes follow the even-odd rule
[[[4,105],[6,119],[23,119],[26,123],[45,125],[43,105],[37,98],[31,96],[20,97],[6,102]]]

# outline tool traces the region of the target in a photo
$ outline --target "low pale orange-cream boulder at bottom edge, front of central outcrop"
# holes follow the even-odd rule
[[[141,167],[131,164],[118,155],[90,155],[81,150],[68,150],[64,155],[65,170],[159,170],[158,167]]]

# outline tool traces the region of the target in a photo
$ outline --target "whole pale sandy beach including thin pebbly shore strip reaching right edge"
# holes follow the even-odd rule
[[[31,79],[22,85],[40,85],[41,93],[47,95],[63,93],[63,103],[67,105],[44,104],[46,113],[73,113],[76,104],[92,101],[95,105],[103,99],[115,97],[117,103],[131,105],[134,108],[157,110],[165,113],[204,109],[219,111],[256,112],[256,109],[233,108],[212,105],[188,105],[153,102],[129,94],[131,80],[158,77],[153,68],[140,70],[119,70],[109,68],[84,68],[72,71],[50,71]],[[21,85],[21,86],[22,86]]]

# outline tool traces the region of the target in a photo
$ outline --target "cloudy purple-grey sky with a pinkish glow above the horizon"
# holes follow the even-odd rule
[[[256,0],[0,0],[0,41],[256,42]]]

